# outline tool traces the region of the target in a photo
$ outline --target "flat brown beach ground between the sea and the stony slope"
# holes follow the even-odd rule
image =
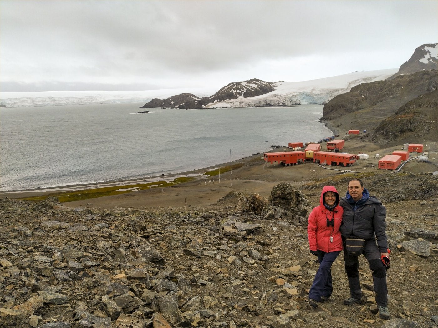
[[[326,142],[321,143],[324,147]],[[219,206],[219,201],[233,192],[231,197],[239,195],[240,193],[255,193],[268,199],[271,195],[272,188],[279,183],[288,183],[296,188],[301,188],[307,183],[320,179],[330,179],[332,183],[342,179],[343,174],[379,174],[381,176],[392,175],[392,171],[379,170],[378,161],[380,157],[376,154],[390,154],[394,150],[398,150],[396,145],[378,145],[371,142],[363,142],[359,138],[352,137],[346,139],[346,150],[352,154],[364,152],[369,154],[366,160],[357,161],[352,169],[344,169],[343,167],[331,168],[323,167],[312,161],[306,161],[303,164],[284,167],[282,165],[266,165],[263,160],[264,153],[253,154],[251,156],[242,157],[236,161],[230,161],[222,164],[212,165],[197,170],[187,171],[184,173],[168,174],[164,177],[151,176],[136,179],[120,179],[108,182],[99,182],[94,184],[81,185],[66,185],[56,188],[21,190],[14,192],[0,192],[0,196],[12,199],[28,198],[34,196],[55,196],[62,192],[71,192],[74,194],[87,194],[88,190],[108,187],[120,186],[120,189],[127,185],[135,183],[145,183],[153,181],[173,181],[179,177],[195,177],[192,181],[184,181],[173,185],[151,186],[145,189],[132,189],[129,191],[122,191],[120,193],[111,195],[102,195],[99,197],[84,198],[79,200],[71,200],[63,202],[64,206],[71,208],[106,208],[112,209],[115,207],[138,207],[138,208],[184,208],[191,206]],[[434,149],[436,145],[434,145]],[[288,151],[286,146],[280,148],[273,148],[267,152],[282,152]],[[403,167],[403,171],[410,173],[424,174],[427,172],[436,171],[438,162],[437,157],[433,157],[433,163],[427,164],[422,162],[409,162]],[[239,163],[238,167],[235,164]],[[234,166],[232,170],[225,170],[220,175],[205,175],[205,172],[216,171],[218,168],[226,168],[227,166]],[[343,171],[343,172],[341,172]],[[214,172],[217,174],[217,172]],[[339,175],[341,174],[341,175]],[[159,183],[161,184],[161,183]],[[157,185],[159,185],[157,184]],[[78,191],[78,192],[74,192]],[[83,192],[81,192],[83,191]],[[117,190],[116,190],[117,191]],[[93,191],[92,191],[93,193]],[[219,204],[219,205],[218,205]]]

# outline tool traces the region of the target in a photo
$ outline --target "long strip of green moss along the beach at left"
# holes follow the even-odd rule
[[[47,197],[57,197],[57,199],[62,203],[63,202],[74,202],[77,200],[98,198],[98,197],[104,197],[104,196],[110,196],[110,195],[120,195],[120,194],[124,194],[127,192],[132,192],[133,190],[144,190],[144,189],[150,189],[150,188],[165,188],[165,187],[177,185],[179,183],[189,182],[189,181],[192,181],[194,179],[195,178],[180,177],[180,178],[176,178],[175,180],[170,181],[170,182],[156,181],[156,182],[149,182],[149,183],[144,183],[144,184],[117,185],[117,186],[111,186],[111,187],[75,190],[75,191],[70,191],[70,192],[53,192],[53,193],[49,193],[46,195],[25,197],[25,198],[21,198],[21,199],[32,201],[32,202],[41,202],[42,200],[46,199]]]

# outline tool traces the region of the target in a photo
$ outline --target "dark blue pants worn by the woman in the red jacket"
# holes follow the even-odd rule
[[[320,301],[321,296],[329,298],[333,292],[332,285],[332,264],[335,262],[341,251],[318,254],[319,269],[309,291],[309,298]]]

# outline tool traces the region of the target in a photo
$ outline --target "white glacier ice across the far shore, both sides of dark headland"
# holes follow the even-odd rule
[[[300,104],[323,104],[338,94],[350,91],[355,85],[385,80],[397,73],[389,70],[362,71],[301,82],[275,82],[275,90],[255,97],[239,97],[215,101],[204,108],[243,108],[260,106],[293,106]],[[92,105],[114,103],[145,103],[152,98],[166,99],[181,93],[198,97],[215,94],[212,87],[203,89],[161,89],[146,91],[39,91],[0,92],[0,104],[6,107],[35,107],[53,105]]]

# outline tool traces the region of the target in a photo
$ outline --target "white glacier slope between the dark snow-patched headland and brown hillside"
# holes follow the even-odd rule
[[[385,80],[398,69],[353,72],[336,77],[302,82],[276,82],[274,91],[255,97],[215,101],[204,108],[238,108],[257,106],[291,106],[299,104],[322,104],[338,94],[350,91],[361,83]]]

